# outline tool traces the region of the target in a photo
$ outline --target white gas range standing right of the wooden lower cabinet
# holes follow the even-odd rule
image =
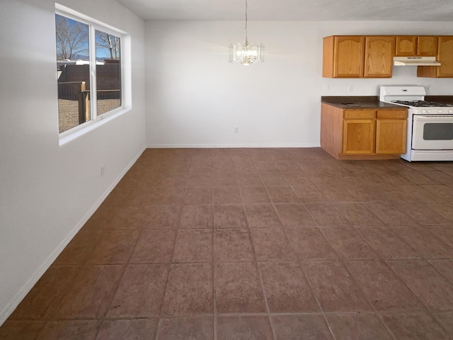
[[[453,105],[425,101],[423,86],[381,86],[379,101],[408,107],[406,154],[413,161],[453,161]]]

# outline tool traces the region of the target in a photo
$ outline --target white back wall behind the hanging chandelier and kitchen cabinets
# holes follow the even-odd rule
[[[243,42],[243,22],[146,23],[149,147],[319,146],[321,96],[377,96],[386,84],[430,84],[453,94],[453,79],[417,78],[394,67],[391,79],[328,79],[328,35],[449,35],[453,23],[249,21],[248,40],[265,62],[229,64],[227,46]],[[324,91],[324,86],[329,91]],[[348,86],[353,91],[348,91]],[[234,134],[234,127],[239,134]]]

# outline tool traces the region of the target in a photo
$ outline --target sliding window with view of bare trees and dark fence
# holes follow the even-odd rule
[[[59,133],[122,108],[122,34],[74,12],[55,13]]]

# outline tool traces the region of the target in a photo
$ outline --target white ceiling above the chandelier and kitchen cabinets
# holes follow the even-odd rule
[[[117,0],[144,20],[243,20],[245,0]],[[251,21],[453,21],[452,0],[248,0]]]

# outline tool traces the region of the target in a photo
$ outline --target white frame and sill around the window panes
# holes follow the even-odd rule
[[[79,135],[92,130],[101,121],[107,121],[105,118],[114,118],[117,115],[128,111],[131,108],[131,91],[130,91],[130,35],[122,30],[113,28],[101,21],[90,18],[60,4],[55,4],[55,14],[79,21],[88,25],[88,48],[90,61],[90,112],[91,120],[75,126],[67,131],[59,133],[59,144],[64,145],[66,142],[73,140]],[[96,30],[115,35],[120,38],[120,77],[121,77],[121,106],[108,112],[98,115],[97,112],[97,91],[96,91]],[[57,53],[55,52],[55,55]],[[127,56],[127,57],[126,57]],[[129,66],[129,67],[128,67]]]

